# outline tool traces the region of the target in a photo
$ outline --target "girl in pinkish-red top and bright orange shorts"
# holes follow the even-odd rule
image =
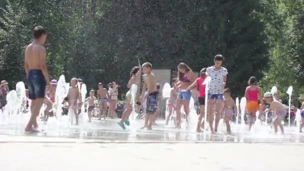
[[[245,90],[245,97],[247,99],[246,111],[249,115],[249,131],[251,129],[252,124],[255,121],[255,113],[259,109],[258,98],[261,99],[261,91],[260,88],[256,85],[256,79],[254,76],[251,76],[248,80],[248,86]],[[261,100],[261,103],[263,100]],[[262,112],[259,112],[260,115]],[[259,116],[260,116],[259,115]]]

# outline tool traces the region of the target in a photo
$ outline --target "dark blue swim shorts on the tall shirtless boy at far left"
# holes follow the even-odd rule
[[[31,69],[28,72],[28,98],[44,98],[45,96],[45,78],[40,69]]]

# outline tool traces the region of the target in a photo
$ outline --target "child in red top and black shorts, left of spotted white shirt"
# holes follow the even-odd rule
[[[200,127],[204,128],[204,122],[201,122],[204,117],[204,108],[205,108],[205,85],[203,85],[203,81],[206,78],[206,68],[202,68],[199,72],[199,77],[187,88],[190,90],[191,88],[197,87],[197,97],[199,102],[199,116],[197,120],[196,131],[200,132]]]

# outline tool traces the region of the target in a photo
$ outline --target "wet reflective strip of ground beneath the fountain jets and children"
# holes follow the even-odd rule
[[[162,120],[153,126],[153,130],[139,129],[142,120],[137,123],[134,129],[122,130],[117,125],[117,119],[98,121],[91,123],[82,123],[78,126],[53,127],[41,125],[44,132],[28,133],[24,132],[24,125],[7,124],[0,125],[1,135],[10,136],[37,136],[37,137],[62,137],[83,139],[90,142],[244,142],[244,143],[286,143],[297,142],[304,143],[304,133],[296,131],[295,127],[285,127],[285,134],[275,135],[268,133],[253,133],[243,131],[232,135],[218,133],[211,135],[209,133],[197,133],[187,129],[165,128]],[[233,130],[233,129],[232,129]]]

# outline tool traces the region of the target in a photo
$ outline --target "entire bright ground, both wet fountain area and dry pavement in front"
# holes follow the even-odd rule
[[[79,126],[40,126],[26,133],[22,124],[0,125],[1,170],[304,170],[304,134],[284,135],[258,128],[233,135],[188,129],[122,130],[117,119]],[[159,124],[160,123],[160,124]],[[260,130],[264,131],[259,132]],[[233,129],[232,129],[233,130]]]

